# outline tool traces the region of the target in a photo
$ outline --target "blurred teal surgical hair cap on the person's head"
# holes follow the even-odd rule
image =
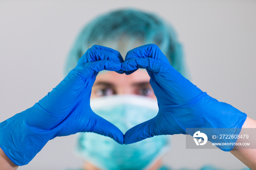
[[[120,47],[122,42],[125,45]],[[149,43],[158,45],[174,69],[187,76],[182,46],[173,27],[156,15],[136,9],[113,11],[87,24],[68,55],[65,74],[76,66],[78,59],[94,44],[108,46],[114,50],[125,48],[128,52],[134,48],[136,42],[139,42],[138,46]]]

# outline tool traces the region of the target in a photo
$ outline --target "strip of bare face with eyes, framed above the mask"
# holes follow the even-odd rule
[[[150,76],[146,70],[137,70],[130,75],[116,72],[99,74],[94,82],[91,98],[114,94],[136,94],[156,99],[149,80]]]

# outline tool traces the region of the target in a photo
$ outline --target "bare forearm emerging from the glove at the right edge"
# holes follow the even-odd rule
[[[247,117],[242,128],[256,128],[256,120]],[[234,148],[230,152],[249,168],[256,169],[256,149]]]

